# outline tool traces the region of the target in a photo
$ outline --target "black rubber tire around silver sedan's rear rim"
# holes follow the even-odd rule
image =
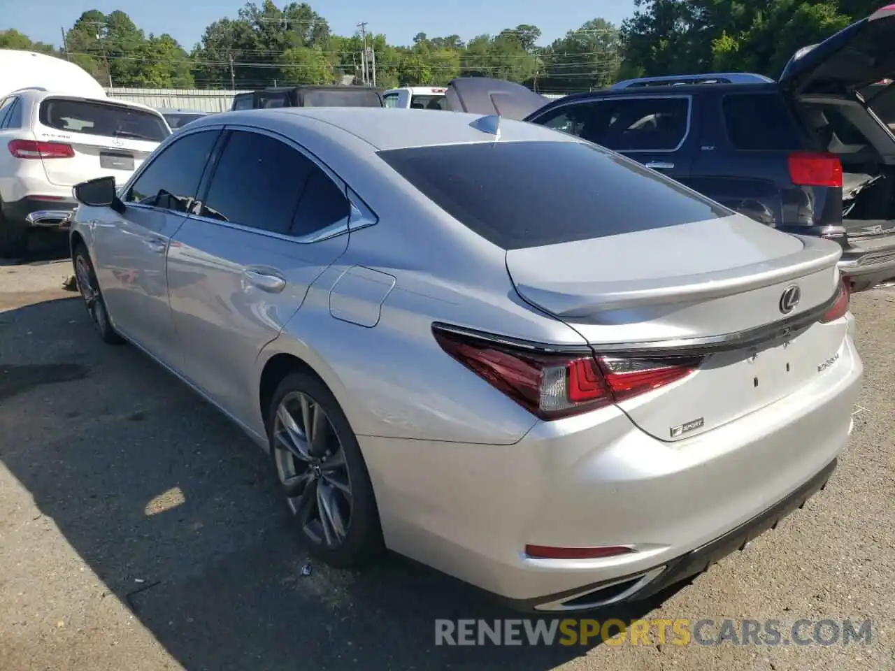
[[[329,544],[326,539],[320,537],[319,533],[315,534],[311,531],[311,524],[305,525],[299,519],[300,511],[296,507],[300,505],[302,500],[301,494],[295,488],[290,490],[286,486],[281,465],[277,463],[277,458],[282,459],[283,454],[294,460],[289,451],[282,449],[283,443],[274,434],[277,427],[282,429],[281,422],[277,421],[277,410],[280,408],[281,403],[284,403],[285,400],[286,403],[289,403],[289,399],[294,399],[296,395],[304,395],[322,408],[326,413],[328,426],[335,432],[335,437],[341,445],[341,452],[345,456],[351,504],[344,537],[339,539],[337,545]],[[311,556],[315,556],[324,563],[336,568],[358,567],[370,564],[385,548],[382,539],[382,528],[379,524],[379,510],[376,505],[376,497],[373,494],[370,474],[367,471],[366,463],[363,461],[361,447],[358,445],[354,431],[345,417],[345,412],[342,412],[342,408],[339,407],[335,396],[332,395],[332,392],[319,378],[311,373],[304,371],[291,373],[277,386],[277,391],[274,393],[268,407],[267,419],[268,444],[274,471],[277,473],[277,480],[279,480],[280,487],[283,490],[286,507],[298,524],[299,532],[311,552]],[[283,454],[278,457],[278,452]],[[294,463],[305,465],[298,460],[294,460]],[[310,470],[306,472],[310,473]],[[326,483],[326,475],[321,476],[318,468],[316,477],[322,483],[320,485],[322,487]],[[314,478],[312,474],[311,478]],[[316,488],[314,490],[316,491]],[[330,491],[335,491],[335,489],[330,488]],[[298,503],[296,503],[296,498]],[[320,499],[317,500],[319,501]],[[324,522],[322,522],[319,504],[317,504],[317,514],[320,517],[320,521],[316,523],[322,530]],[[333,527],[330,525],[330,528]]]

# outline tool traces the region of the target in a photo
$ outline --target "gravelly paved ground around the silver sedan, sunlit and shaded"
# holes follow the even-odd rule
[[[869,645],[436,647],[513,616],[399,558],[307,556],[266,458],[131,347],[93,335],[64,263],[0,267],[0,669],[895,668],[895,292],[857,296],[864,392],[830,485],[664,602],[613,615],[873,618]],[[602,617],[605,617],[603,615]]]

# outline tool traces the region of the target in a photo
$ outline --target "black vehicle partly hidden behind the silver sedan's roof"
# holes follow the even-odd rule
[[[251,106],[249,101],[251,100]],[[369,86],[274,86],[238,93],[231,111],[270,107],[382,107],[382,93]]]

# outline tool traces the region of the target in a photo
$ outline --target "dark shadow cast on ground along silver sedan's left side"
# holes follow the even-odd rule
[[[0,458],[190,671],[540,670],[594,647],[436,646],[438,618],[518,615],[400,557],[311,562],[267,457],[141,352],[99,343],[78,300],[0,318]]]

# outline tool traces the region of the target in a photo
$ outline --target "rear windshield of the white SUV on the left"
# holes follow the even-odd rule
[[[160,142],[171,133],[161,116],[119,105],[47,98],[40,104],[40,123],[58,131],[109,138]]]

